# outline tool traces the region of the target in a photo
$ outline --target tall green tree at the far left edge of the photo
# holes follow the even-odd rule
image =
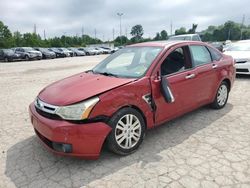
[[[12,34],[8,26],[0,21],[0,48],[10,48],[14,45]]]

